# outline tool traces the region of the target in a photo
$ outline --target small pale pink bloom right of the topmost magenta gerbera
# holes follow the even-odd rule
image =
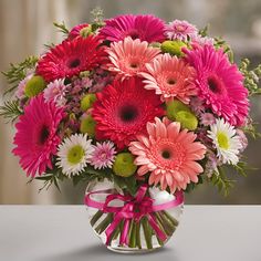
[[[187,41],[198,34],[198,29],[187,21],[174,20],[165,27],[165,33],[170,40]]]

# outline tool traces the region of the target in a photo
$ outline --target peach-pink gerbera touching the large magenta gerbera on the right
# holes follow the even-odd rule
[[[145,77],[145,88],[155,90],[164,101],[176,97],[188,104],[190,96],[197,94],[195,69],[177,56],[161,54],[146,67],[147,73],[140,73]]]

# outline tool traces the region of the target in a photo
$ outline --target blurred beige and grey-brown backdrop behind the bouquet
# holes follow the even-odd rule
[[[90,11],[100,6],[105,18],[119,13],[153,13],[166,21],[185,19],[198,25],[210,23],[211,35],[222,35],[231,44],[239,61],[250,58],[261,62],[261,1],[260,0],[0,0],[0,71],[10,62],[22,61],[27,55],[40,54],[44,43],[62,40],[52,27],[53,21],[65,21],[67,27],[90,21]],[[7,87],[0,76],[0,93]],[[252,100],[252,116],[261,118],[261,101]],[[1,101],[2,103],[2,101]],[[260,127],[259,127],[260,129]],[[0,203],[82,203],[84,185],[62,186],[38,194],[40,182],[27,185],[25,174],[11,155],[13,127],[0,119]],[[261,168],[261,140],[250,140],[246,156],[253,167]],[[199,186],[186,196],[187,203],[261,203],[261,171],[249,173],[238,180],[226,199],[217,189]]]

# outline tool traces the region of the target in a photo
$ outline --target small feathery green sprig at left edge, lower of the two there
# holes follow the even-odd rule
[[[7,118],[8,122],[14,122],[22,114],[18,101],[7,101],[0,106],[0,116]]]

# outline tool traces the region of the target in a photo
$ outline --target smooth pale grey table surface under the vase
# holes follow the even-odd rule
[[[101,244],[83,206],[1,206],[1,261],[261,261],[261,206],[185,206],[168,244],[118,254]]]

